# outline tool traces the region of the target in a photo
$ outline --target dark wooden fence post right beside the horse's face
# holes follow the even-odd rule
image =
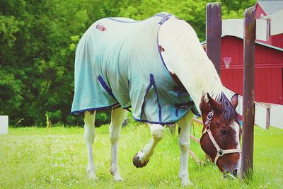
[[[241,179],[253,173],[253,130],[255,125],[255,7],[247,8],[243,39],[243,139]]]

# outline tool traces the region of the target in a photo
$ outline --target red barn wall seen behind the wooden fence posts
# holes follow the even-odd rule
[[[223,57],[231,57],[226,68]],[[221,81],[232,91],[243,94],[243,39],[221,38]],[[283,51],[255,45],[255,101],[283,104]]]

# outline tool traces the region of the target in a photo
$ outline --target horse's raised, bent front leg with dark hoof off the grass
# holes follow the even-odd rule
[[[162,125],[149,124],[149,126],[151,129],[151,140],[144,149],[137,152],[133,159],[133,164],[137,168],[146,166],[150,156],[154,154],[156,144],[164,137],[164,127]]]

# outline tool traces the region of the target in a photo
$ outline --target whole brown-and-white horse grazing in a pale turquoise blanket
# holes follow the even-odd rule
[[[148,122],[151,130],[148,144],[134,155],[137,168],[148,164],[164,137],[163,125],[177,122],[178,176],[182,185],[192,184],[187,170],[190,127],[194,114],[200,114],[203,151],[221,172],[239,173],[238,94],[231,101],[225,96],[195,30],[180,18],[163,12],[144,21],[112,17],[96,21],[76,47],[74,78],[71,113],[83,114],[87,171],[93,180],[97,179],[93,164],[97,110],[112,110],[110,173],[114,181],[122,181],[118,141],[122,122],[131,110],[134,119]]]

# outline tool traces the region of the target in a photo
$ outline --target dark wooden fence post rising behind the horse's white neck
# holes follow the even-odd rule
[[[220,76],[221,69],[221,3],[207,4],[207,56]]]

